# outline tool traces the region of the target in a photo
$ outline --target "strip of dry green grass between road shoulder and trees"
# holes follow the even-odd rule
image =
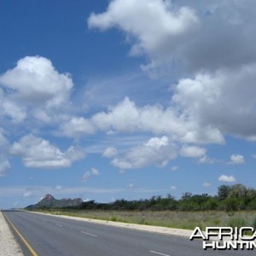
[[[45,211],[44,211],[45,212]],[[147,224],[169,228],[194,230],[200,227],[205,230],[208,226],[230,226],[230,224],[242,224],[253,226],[256,211],[242,212],[129,212],[129,211],[92,211],[92,210],[61,210],[51,211],[55,214],[82,218],[96,218],[116,222]]]

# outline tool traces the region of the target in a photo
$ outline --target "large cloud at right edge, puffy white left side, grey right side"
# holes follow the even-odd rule
[[[255,70],[256,64],[249,64],[180,79],[172,101],[201,130],[211,127],[216,139],[226,134],[252,138],[256,135]]]

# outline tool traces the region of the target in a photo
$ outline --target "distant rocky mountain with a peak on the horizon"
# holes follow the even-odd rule
[[[35,205],[26,207],[26,209],[79,207],[82,203],[83,200],[81,198],[63,198],[58,200],[52,195],[47,194],[41,201],[38,201]]]

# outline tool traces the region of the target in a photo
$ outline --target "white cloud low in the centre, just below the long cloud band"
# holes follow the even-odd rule
[[[121,170],[142,168],[145,166],[166,166],[169,160],[177,157],[177,148],[170,143],[168,137],[152,137],[143,143],[118,157],[114,157],[111,163]]]

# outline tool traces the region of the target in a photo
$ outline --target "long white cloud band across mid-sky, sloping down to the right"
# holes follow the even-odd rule
[[[149,131],[169,135],[183,143],[223,143],[222,134],[214,127],[200,127],[186,113],[175,108],[163,109],[160,105],[139,108],[128,97],[110,108],[108,113],[96,113],[91,121],[101,131],[135,132]]]

